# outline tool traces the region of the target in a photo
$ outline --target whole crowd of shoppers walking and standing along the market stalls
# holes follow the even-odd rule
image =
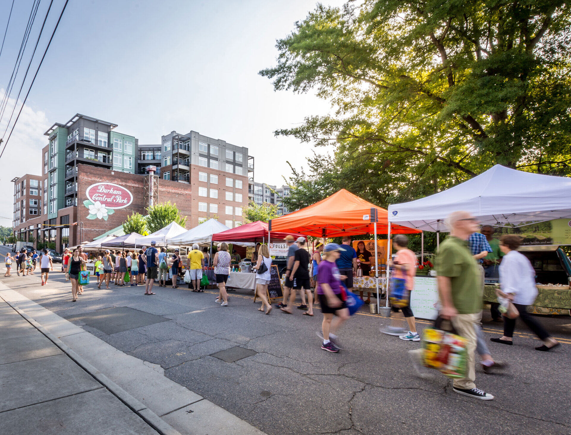
[[[492,237],[494,229],[491,226],[483,226],[481,232],[478,232],[477,219],[465,211],[449,215],[447,225],[450,235],[440,245],[435,261],[440,300],[439,317],[449,320],[456,332],[467,340],[467,370],[463,378],[455,378],[453,390],[465,396],[491,400],[492,394],[476,387],[475,355],[480,355],[484,373],[493,373],[496,370],[501,372],[507,365],[494,360],[482,333],[485,277],[499,279],[498,297],[513,304],[513,309],[517,310],[522,322],[543,341],[536,350],[547,352],[560,344],[528,313],[528,306],[532,305],[537,297],[537,287],[532,265],[528,258],[517,251],[521,243],[520,237],[506,234],[496,240]],[[297,308],[303,311],[303,315],[313,317],[315,297],[323,313],[321,331],[317,333],[322,340],[321,349],[337,353],[341,348],[336,333],[349,318],[347,300],[348,293],[353,290],[353,277],[357,268],[369,272],[371,255],[365,249],[364,242],[357,242],[357,249],[353,249],[349,237],[343,237],[341,245],[319,243],[312,254],[304,248],[304,237],[295,239],[293,236],[287,236],[284,240],[288,246],[287,266],[283,277],[283,298],[276,306],[283,313],[293,314],[293,306],[299,292],[301,304]],[[408,237],[403,234],[393,237],[392,247],[396,254],[388,261],[387,266],[392,271],[392,279],[403,281],[405,289],[410,293],[413,291],[418,260],[416,254],[408,249],[408,242]],[[270,314],[272,305],[268,300],[268,284],[271,280],[272,258],[268,246],[258,244],[251,259],[256,273],[256,296],[262,301],[259,310]],[[14,258],[7,254],[5,276],[10,276],[13,262],[17,265],[18,276],[20,273],[34,274],[38,260],[41,263],[42,285],[45,285],[50,270],[53,270],[53,261],[47,249],[40,254],[35,250],[28,253],[23,249]],[[66,278],[71,280],[74,302],[83,293],[79,276],[82,270],[85,270],[87,260],[88,256],[81,246],[73,252],[66,249],[63,253],[63,272],[66,273]],[[159,252],[155,241],[151,242],[149,248],[143,247],[136,252],[107,249],[102,256],[94,260],[98,288],[101,288],[102,284],[106,284],[106,289],[109,289],[111,283],[124,286],[130,282],[131,286],[144,285],[145,295],[154,295],[152,289],[155,280],[159,281],[160,287],[172,284],[172,288],[177,288],[177,278],[182,274],[179,250],[175,249],[174,253],[168,254],[165,248],[160,248]],[[214,266],[219,289],[215,302],[228,306],[226,283],[231,266],[240,261],[235,250],[230,254],[228,244],[223,242],[211,259],[207,249],[201,251],[195,244],[188,252],[187,260],[187,274],[192,291],[203,291],[200,288],[203,269]],[[362,299],[362,292],[360,296]],[[369,294],[364,302],[370,302],[370,297]],[[492,317],[494,321],[504,322],[504,334],[490,340],[497,344],[512,345],[516,320],[513,316],[502,316],[499,306],[500,304],[492,306]],[[398,336],[405,341],[420,341],[410,303],[402,304],[399,308],[393,306],[392,312],[391,323],[382,328],[381,332]],[[407,326],[406,329],[402,328],[403,324]],[[428,372],[423,366],[423,350],[409,352],[417,373],[426,377]]]

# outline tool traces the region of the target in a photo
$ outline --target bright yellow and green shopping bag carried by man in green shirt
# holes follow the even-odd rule
[[[458,335],[452,322],[439,316],[433,328],[424,330],[423,364],[439,370],[449,378],[464,378],[467,361],[466,345],[467,340]]]

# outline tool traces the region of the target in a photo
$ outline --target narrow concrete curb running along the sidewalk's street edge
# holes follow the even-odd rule
[[[16,312],[18,312],[20,316],[25,318],[25,320],[29,322],[30,325],[34,326],[34,328],[36,328],[51,342],[53,342],[54,345],[61,349],[63,353],[69,356],[83,370],[93,376],[95,380],[97,380],[100,384],[104,385],[111,392],[111,394],[113,394],[116,398],[127,405],[128,408],[130,408],[134,413],[146,421],[147,424],[155,429],[158,433],[161,435],[181,435],[178,430],[172,428],[171,425],[167,424],[167,422],[165,422],[162,418],[148,409],[141,402],[136,400],[136,398],[132,397],[131,394],[127,393],[119,385],[115,384],[115,382],[111,381],[107,376],[99,372],[98,369],[96,369],[93,365],[89,364],[89,362],[71,350],[69,346],[59,340],[59,338],[54,336],[54,334],[48,332],[42,325],[31,318],[28,314],[23,312],[18,306],[11,304],[11,302],[5,300],[5,298],[2,296],[0,296],[0,298],[2,298],[2,300],[6,302],[6,304],[10,305],[11,308],[13,308]]]

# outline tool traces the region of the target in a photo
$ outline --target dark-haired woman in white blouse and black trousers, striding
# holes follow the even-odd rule
[[[529,329],[544,342],[537,346],[536,350],[547,352],[559,346],[555,338],[539,324],[537,319],[528,313],[528,305],[532,305],[537,297],[537,286],[535,282],[535,270],[528,258],[517,252],[521,244],[520,236],[515,234],[504,234],[500,238],[500,249],[505,254],[500,264],[500,296],[508,298],[520,313],[520,319]],[[490,340],[501,344],[513,344],[513,329],[516,326],[516,319],[504,316],[504,336],[500,338],[490,338]]]

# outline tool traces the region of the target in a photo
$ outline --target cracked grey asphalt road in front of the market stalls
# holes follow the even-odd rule
[[[277,309],[265,316],[249,290],[231,293],[230,305],[222,307],[214,302],[215,290],[155,286],[155,296],[143,296],[140,287],[97,290],[91,284],[73,303],[62,273],[51,274],[46,286],[38,274],[1,279],[66,318],[112,307],[164,318],[111,334],[74,323],[123,352],[160,364],[172,380],[268,434],[571,433],[567,316],[540,318],[564,343],[553,352],[534,350],[539,342],[519,323],[513,346],[490,342],[493,357],[510,367],[487,375],[477,360],[476,385],[496,396],[478,401],[454,393],[443,376],[415,377],[407,350],[420,343],[381,334],[388,319],[367,312],[349,319],[339,334],[344,350],[332,354],[321,350],[315,334],[319,309],[313,318]],[[419,329],[427,325],[419,321]],[[500,336],[500,329],[485,313],[486,337]],[[236,362],[212,356],[235,346],[256,354]]]

